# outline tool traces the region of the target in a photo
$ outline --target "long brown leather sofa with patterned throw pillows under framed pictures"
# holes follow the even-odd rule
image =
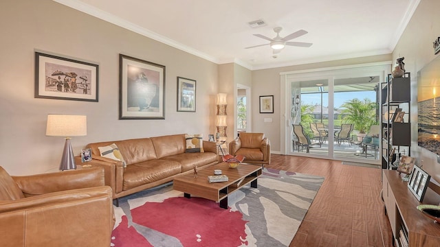
[[[100,156],[99,147],[115,143],[126,163]],[[193,172],[193,165],[203,168],[219,162],[217,145],[203,141],[204,152],[186,153],[185,134],[89,143],[90,165],[104,167],[105,184],[113,189],[113,199],[173,181]],[[77,163],[80,157],[76,157]]]

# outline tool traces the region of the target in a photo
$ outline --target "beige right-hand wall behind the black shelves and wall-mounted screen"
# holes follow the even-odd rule
[[[393,51],[393,60],[404,56],[406,72],[411,73],[411,155],[416,156],[417,163],[423,164],[423,169],[440,183],[440,164],[437,163],[437,156],[417,146],[417,71],[438,56],[434,55],[432,42],[440,36],[439,10],[438,0],[420,1]]]

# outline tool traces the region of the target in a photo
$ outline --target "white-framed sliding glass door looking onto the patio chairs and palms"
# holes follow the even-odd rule
[[[286,76],[286,154],[379,164],[381,68]]]

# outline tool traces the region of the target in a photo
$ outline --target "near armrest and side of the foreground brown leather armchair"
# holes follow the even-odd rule
[[[114,224],[111,188],[2,201],[0,222],[1,241],[10,246],[110,246]]]

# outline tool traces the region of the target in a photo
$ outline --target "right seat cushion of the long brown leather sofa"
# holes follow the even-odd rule
[[[219,161],[219,157],[213,152],[203,152],[176,154],[161,158],[160,160],[179,162],[181,164],[181,172],[186,172],[193,168],[192,165],[202,167],[203,165],[217,163]]]

